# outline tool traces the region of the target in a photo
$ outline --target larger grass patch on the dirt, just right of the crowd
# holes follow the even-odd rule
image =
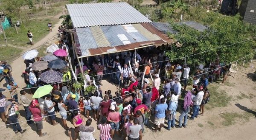
[[[230,101],[232,101],[232,96],[227,95],[227,92],[224,90],[219,90],[218,86],[209,86],[208,90],[210,91],[210,108],[213,107],[224,107],[227,106]]]

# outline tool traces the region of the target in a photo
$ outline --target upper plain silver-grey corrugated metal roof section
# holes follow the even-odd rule
[[[151,22],[128,3],[67,4],[74,28]]]

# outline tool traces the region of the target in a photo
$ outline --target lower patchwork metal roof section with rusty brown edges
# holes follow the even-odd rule
[[[76,49],[80,57],[115,53],[148,45],[173,43],[151,23],[75,28]]]

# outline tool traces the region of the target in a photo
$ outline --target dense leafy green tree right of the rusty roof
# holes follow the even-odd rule
[[[216,57],[219,57],[221,62],[234,62],[252,53],[255,49],[255,41],[253,39],[247,40],[256,36],[255,32],[253,32],[255,27],[244,24],[239,16],[227,17],[218,13],[208,13],[207,17],[202,21],[208,27],[208,30],[204,32],[199,32],[186,25],[172,23],[173,28],[178,31],[178,34],[172,37],[180,42],[182,47],[172,47],[172,50],[168,50],[166,55],[169,59],[190,56],[212,49],[203,54],[186,58],[187,64],[205,64],[215,61]],[[251,57],[248,56],[246,59]],[[184,59],[177,61],[184,63]]]

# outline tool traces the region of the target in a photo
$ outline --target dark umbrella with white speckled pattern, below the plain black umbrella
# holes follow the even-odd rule
[[[40,78],[47,84],[53,84],[62,80],[62,74],[55,70],[48,70],[42,73]]]

